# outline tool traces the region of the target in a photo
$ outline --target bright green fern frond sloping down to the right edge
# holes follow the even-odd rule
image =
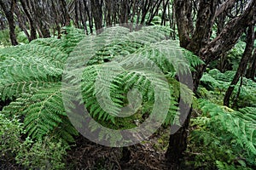
[[[220,125],[233,135],[234,142],[247,149],[248,155],[256,155],[256,133],[255,133],[255,108],[243,109],[241,111],[249,111],[243,115],[240,111],[231,113],[224,111],[218,105],[214,105],[206,100],[201,101],[201,110],[212,116],[212,122],[220,122]],[[250,115],[250,116],[248,116]]]

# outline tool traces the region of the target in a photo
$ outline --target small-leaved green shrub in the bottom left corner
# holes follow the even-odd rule
[[[24,125],[17,117],[11,120],[0,114],[0,161],[23,166],[28,169],[61,169],[65,166],[63,156],[67,144],[46,137],[32,141],[24,135]]]

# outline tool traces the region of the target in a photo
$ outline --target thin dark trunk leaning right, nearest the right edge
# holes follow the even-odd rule
[[[239,81],[239,78],[242,77],[247,69],[247,63],[250,57],[252,56],[253,53],[253,43],[254,43],[254,25],[249,26],[248,31],[247,31],[247,45],[244,50],[244,53],[242,54],[242,58],[239,64],[239,67],[236,71],[236,75],[233,78],[232,82],[230,83],[230,87],[225,93],[224,96],[224,105],[230,106],[230,96],[234,91],[234,88],[236,86],[236,83]]]

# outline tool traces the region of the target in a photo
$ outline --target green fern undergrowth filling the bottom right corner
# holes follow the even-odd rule
[[[250,169],[256,165],[255,108],[240,111],[201,99],[202,115],[192,119],[195,166],[218,169]],[[212,167],[211,167],[212,166]]]

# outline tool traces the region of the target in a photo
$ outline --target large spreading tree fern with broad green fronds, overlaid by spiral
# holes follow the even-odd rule
[[[52,135],[73,141],[77,131],[68,120],[63,102],[73,109],[70,99],[77,93],[74,91],[77,88],[70,90],[73,87],[66,86],[65,82],[76,85],[79,78],[82,84],[78,88],[83,94],[80,105],[85,105],[90,114],[103,124],[112,122],[118,126],[123,123],[122,118],[115,116],[124,108],[127,114],[137,111],[136,116],[147,115],[153,110],[156,96],[162,96],[160,101],[166,104],[167,110],[169,108],[166,124],[177,119],[180,91],[183,94],[191,94],[191,91],[177,82],[174,76],[185,74],[188,67],[200,65],[201,60],[177,48],[177,42],[166,41],[168,28],[150,26],[131,32],[118,26],[105,29],[100,35],[85,37],[83,31],[67,27],[63,33],[67,36],[62,39],[38,39],[0,51],[1,100],[12,99],[2,112],[24,117],[28,135],[34,139]],[[185,58],[194,59],[190,59],[189,64],[184,63],[179,57],[183,53],[186,53]],[[177,65],[172,65],[174,62]],[[106,72],[108,77],[104,75]],[[65,79],[61,83],[63,73]],[[103,86],[95,87],[95,82]],[[144,108],[127,99],[126,94],[131,88],[142,93]],[[104,99],[107,103],[99,102],[106,92],[110,94],[108,100]],[[165,98],[170,103],[164,103]],[[102,105],[108,105],[108,110],[105,111],[106,107]],[[130,118],[129,123],[135,125]]]

